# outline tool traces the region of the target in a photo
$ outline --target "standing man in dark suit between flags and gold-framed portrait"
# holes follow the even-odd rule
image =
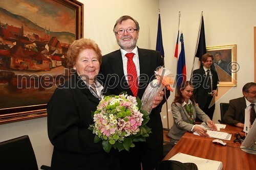
[[[217,72],[210,68],[213,60],[214,57],[211,54],[204,54],[202,56],[203,67],[194,70],[192,75],[195,101],[210,119],[214,116],[215,104],[209,106],[214,96],[218,94],[219,80]],[[201,122],[201,120],[197,118],[196,122]]]

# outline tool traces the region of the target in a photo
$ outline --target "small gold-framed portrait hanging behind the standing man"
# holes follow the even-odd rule
[[[236,86],[237,72],[240,67],[237,63],[237,45],[223,45],[206,47],[206,52],[214,56],[212,69],[218,73],[219,86]]]

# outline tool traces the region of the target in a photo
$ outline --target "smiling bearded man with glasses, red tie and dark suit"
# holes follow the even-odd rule
[[[105,86],[112,94],[119,94],[127,91],[129,95],[138,96],[140,99],[147,85],[155,78],[154,71],[158,66],[164,63],[160,53],[153,50],[146,50],[137,47],[139,38],[139,23],[131,16],[121,16],[113,29],[120,50],[106,54],[102,57],[100,69],[100,80],[105,82]],[[138,76],[138,92],[133,92],[130,88],[128,75],[127,53],[134,53],[133,62],[136,66]],[[137,79],[134,77],[133,79]],[[163,92],[160,97],[155,100],[155,107],[151,114],[147,126],[150,127],[152,133],[146,137],[146,142],[135,142],[135,147],[130,151],[120,152],[122,169],[141,169],[153,170],[156,163],[163,158],[163,127],[160,116],[161,108],[165,100],[163,100]],[[169,93],[166,94],[168,97]]]

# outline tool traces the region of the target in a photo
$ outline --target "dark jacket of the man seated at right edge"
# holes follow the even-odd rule
[[[244,124],[246,102],[245,98],[237,98],[229,101],[227,112],[223,116],[223,123],[236,126],[237,123]]]

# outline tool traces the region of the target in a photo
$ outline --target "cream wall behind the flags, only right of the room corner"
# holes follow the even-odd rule
[[[190,77],[195,55],[201,12],[204,16],[206,46],[237,44],[238,84],[216,103],[214,122],[220,119],[220,103],[243,96],[242,87],[254,81],[253,27],[256,27],[256,1],[179,1],[160,0],[162,35],[165,52],[165,66],[176,70],[177,60],[173,57],[178,34],[178,15],[181,13],[187,77]],[[245,62],[246,60],[246,62]],[[228,89],[230,87],[219,87]],[[168,102],[170,104],[172,99]],[[168,110],[172,123],[172,113]]]

